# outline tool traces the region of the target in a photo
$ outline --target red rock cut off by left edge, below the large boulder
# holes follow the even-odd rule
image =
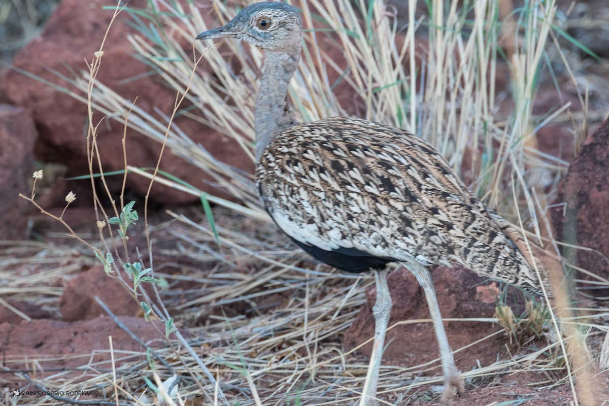
[[[36,128],[23,108],[0,105],[0,239],[27,237],[30,208],[19,193],[29,194],[34,172]]]

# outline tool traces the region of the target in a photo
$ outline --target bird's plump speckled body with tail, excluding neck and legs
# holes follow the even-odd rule
[[[399,128],[353,117],[295,125],[264,150],[256,181],[284,233],[334,267],[456,263],[540,293],[518,233]]]

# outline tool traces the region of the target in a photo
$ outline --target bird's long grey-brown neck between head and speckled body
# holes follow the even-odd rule
[[[297,124],[287,102],[287,88],[299,59],[300,46],[289,53],[266,51],[256,99],[256,159],[276,136]]]

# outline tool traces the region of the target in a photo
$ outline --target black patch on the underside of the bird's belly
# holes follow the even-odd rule
[[[371,269],[382,269],[389,262],[398,261],[395,258],[384,258],[370,256],[370,254],[357,250],[356,248],[337,248],[327,251],[314,245],[307,245],[290,237],[298,247],[306,251],[307,254],[331,267],[338,268],[345,272],[357,273]]]

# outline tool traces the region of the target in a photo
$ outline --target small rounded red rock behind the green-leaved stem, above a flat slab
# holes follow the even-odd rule
[[[99,297],[114,315],[135,316],[141,310],[127,290],[106,275],[102,265],[80,273],[72,279],[59,298],[63,320],[91,320],[107,313],[95,300]]]

